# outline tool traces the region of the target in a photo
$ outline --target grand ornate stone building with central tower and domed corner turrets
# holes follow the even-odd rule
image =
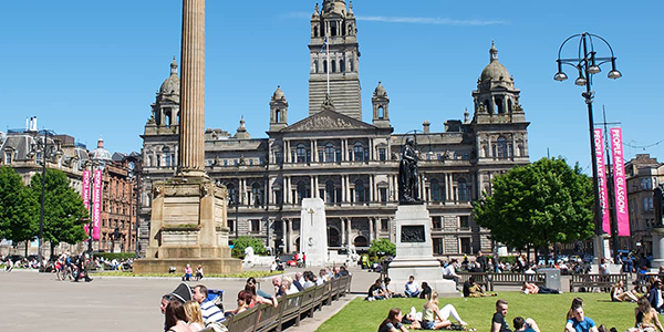
[[[388,94],[378,83],[371,101],[372,122],[362,121],[352,3],[317,4],[308,29],[309,116],[289,120],[287,96],[277,87],[271,98],[266,96],[267,138],[252,138],[243,120],[235,134],[206,131],[206,172],[230,196],[230,240],[252,236],[270,248],[298,251],[301,200],[314,197],[325,203],[331,251],[343,252],[350,245],[366,250],[378,238],[394,241],[400,154],[406,136],[413,134],[394,133],[390,113],[416,115],[417,110],[391,110]],[[325,41],[329,56],[321,52]],[[429,132],[429,122],[423,120],[423,129],[414,134],[419,151],[419,197],[432,218],[435,256],[492,249],[488,230],[474,221],[473,203],[483,193],[490,194],[494,176],[529,163],[529,123],[519,93],[491,45],[489,64],[471,92],[471,117],[466,111],[464,120],[445,121],[443,133]],[[152,184],[172,177],[177,168],[178,112],[174,60],[142,135],[141,248],[147,248]]]

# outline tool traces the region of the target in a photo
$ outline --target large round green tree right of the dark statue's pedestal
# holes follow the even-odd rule
[[[486,193],[485,193],[486,195]],[[592,236],[592,180],[564,159],[542,158],[492,181],[492,195],[474,208],[475,220],[509,247],[547,247]]]

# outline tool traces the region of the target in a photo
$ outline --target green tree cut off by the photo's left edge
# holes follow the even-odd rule
[[[37,201],[21,176],[11,167],[0,167],[0,238],[14,243],[34,239],[37,211]]]

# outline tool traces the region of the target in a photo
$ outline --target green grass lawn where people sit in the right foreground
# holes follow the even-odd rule
[[[440,298],[440,308],[447,303],[454,304],[461,319],[477,331],[489,331],[491,317],[496,312],[496,300],[509,302],[507,322],[511,326],[515,317],[532,318],[542,332],[564,330],[566,314],[572,299],[583,299],[585,315],[593,319],[598,326],[615,326],[625,331],[634,325],[635,303],[611,302],[608,293],[563,293],[563,294],[529,294],[520,292],[499,292],[497,298],[464,299]],[[381,322],[387,318],[392,308],[411,311],[415,307],[422,311],[425,300],[392,299],[367,302],[362,299],[351,301],[342,311],[324,322],[317,331],[377,331]],[[452,317],[449,318],[452,319]],[[454,322],[454,319],[452,319]]]

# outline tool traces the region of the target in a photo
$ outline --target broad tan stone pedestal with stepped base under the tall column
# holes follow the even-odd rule
[[[134,272],[166,273],[170,266],[201,264],[206,273],[241,271],[230,258],[225,187],[206,177],[173,178],[153,187],[149,247]]]

